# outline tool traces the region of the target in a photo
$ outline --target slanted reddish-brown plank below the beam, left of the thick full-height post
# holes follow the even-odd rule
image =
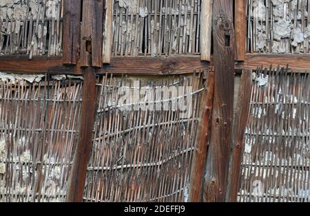
[[[207,75],[206,89],[201,99],[203,110],[199,122],[199,136],[196,140],[197,146],[194,153],[189,181],[189,202],[201,202],[203,200],[203,174],[205,172],[207,146],[210,136],[213,95],[214,72],[209,72]]]

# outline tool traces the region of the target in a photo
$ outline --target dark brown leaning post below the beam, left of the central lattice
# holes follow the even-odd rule
[[[90,151],[92,150],[92,130],[96,107],[96,72],[86,68],[83,83],[83,101],[80,117],[79,140],[74,153],[67,202],[81,202]]]

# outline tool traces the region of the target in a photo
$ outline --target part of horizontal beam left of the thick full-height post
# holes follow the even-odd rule
[[[171,75],[189,74],[194,70],[207,70],[210,63],[200,61],[200,57],[112,57],[110,64],[104,64],[99,74],[130,74],[130,75]],[[64,66],[61,57],[0,56],[1,72],[17,72],[27,74],[70,74],[83,75],[81,65]]]

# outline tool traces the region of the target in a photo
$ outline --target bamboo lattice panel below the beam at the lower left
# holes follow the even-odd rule
[[[81,92],[79,80],[1,74],[0,202],[65,201]]]

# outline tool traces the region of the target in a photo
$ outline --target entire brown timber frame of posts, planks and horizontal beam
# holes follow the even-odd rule
[[[110,0],[108,0],[110,1]],[[286,67],[289,64],[291,70],[309,72],[310,55],[251,55],[246,54],[245,37],[245,0],[203,0],[203,28],[200,39],[204,41],[201,48],[201,56],[179,57],[111,57],[110,42],[112,40],[112,1],[104,5],[103,0],[67,0],[64,4],[64,33],[62,57],[32,57],[28,56],[0,56],[0,71],[21,74],[51,74],[51,75],[83,75],[84,91],[83,111],[81,119],[85,128],[81,128],[79,144],[74,156],[73,174],[70,177],[68,190],[68,202],[81,202],[85,184],[85,169],[87,158],[91,148],[92,126],[94,125],[95,107],[95,81],[96,75],[113,73],[114,75],[180,75],[192,74],[194,70],[210,70],[214,76],[208,79],[207,88],[214,87],[214,106],[211,112],[211,95],[207,95],[207,101],[203,109],[202,134],[200,134],[194,164],[199,167],[198,177],[192,175],[194,187],[190,189],[190,200],[215,202],[225,201],[225,182],[229,176],[227,168],[229,161],[229,147],[231,142],[239,143],[239,137],[231,140],[232,128],[232,102],[234,94],[234,72],[236,69],[249,70],[258,67],[269,68],[271,65]],[[233,3],[235,5],[235,19],[233,19]],[[81,7],[83,12],[81,13]],[[103,17],[103,8],[106,13]],[[211,15],[212,14],[212,15]],[[81,23],[82,17],[82,23]],[[213,26],[211,23],[213,17]],[[105,23],[105,36],[103,37],[103,23]],[[211,55],[211,28],[213,28],[214,55]],[[235,39],[236,37],[236,39]],[[109,46],[103,44],[103,39]],[[95,69],[96,68],[96,69]],[[247,77],[249,79],[249,77]],[[247,86],[244,86],[246,88]],[[90,90],[88,90],[90,89]],[[243,89],[243,88],[242,88]],[[209,94],[213,92],[209,91]],[[213,94],[212,94],[213,95]],[[240,92],[242,95],[242,92]],[[213,98],[213,97],[212,97]],[[243,109],[246,110],[244,107]],[[212,119],[208,121],[207,119]],[[240,117],[241,118],[241,117]],[[245,119],[242,119],[244,122]],[[211,126],[211,134],[209,134]],[[207,138],[211,136],[210,143]],[[209,150],[207,151],[209,144]],[[218,146],[216,146],[218,145]],[[224,155],[220,155],[220,152]],[[207,155],[208,152],[208,155]],[[240,153],[238,153],[240,154]],[[209,157],[210,179],[205,179],[203,188],[203,172],[205,163]],[[223,156],[223,157],[222,157]],[[240,155],[239,155],[240,156]],[[224,158],[224,159],[223,159]],[[201,161],[200,161],[201,159]],[[238,162],[238,161],[237,161]],[[236,162],[236,164],[238,164]],[[223,167],[223,170],[216,169]],[[238,165],[237,165],[238,166]],[[197,177],[197,179],[196,179]],[[234,175],[236,182],[236,175]],[[202,189],[203,188],[203,189]],[[205,190],[204,198],[199,190]],[[230,188],[229,188],[230,190]],[[232,194],[232,195],[231,195]],[[234,193],[229,195],[229,201],[234,201]]]

